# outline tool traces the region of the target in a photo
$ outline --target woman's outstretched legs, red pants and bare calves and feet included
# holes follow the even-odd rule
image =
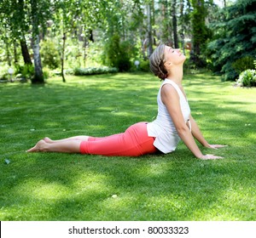
[[[81,139],[84,139],[81,141]],[[104,138],[73,137],[53,141],[41,139],[26,152],[65,152],[102,156],[142,156],[156,152],[154,138],[148,137],[146,123],[129,127],[125,133]]]

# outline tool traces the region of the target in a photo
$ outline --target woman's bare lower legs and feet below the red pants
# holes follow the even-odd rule
[[[47,143],[44,139],[38,141],[38,143],[26,152],[62,152],[62,153],[79,153],[80,152],[80,140],[69,139],[55,143]]]

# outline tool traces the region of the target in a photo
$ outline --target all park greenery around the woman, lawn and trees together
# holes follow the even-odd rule
[[[0,220],[255,220],[255,5],[1,0]],[[183,142],[141,157],[26,153],[46,136],[153,121],[148,57],[160,42],[186,54],[192,115],[228,145],[199,146],[224,159],[196,159]]]

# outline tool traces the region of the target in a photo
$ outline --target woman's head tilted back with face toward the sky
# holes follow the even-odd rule
[[[179,48],[172,48],[165,44],[160,44],[150,55],[149,66],[155,76],[165,79],[174,67],[183,65],[186,57]]]

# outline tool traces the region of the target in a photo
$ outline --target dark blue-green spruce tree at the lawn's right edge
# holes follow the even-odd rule
[[[256,55],[255,7],[255,1],[238,0],[219,12],[218,21],[212,24],[215,35],[207,50],[211,55],[212,69],[223,73],[224,80],[238,77],[240,69],[236,60]]]

